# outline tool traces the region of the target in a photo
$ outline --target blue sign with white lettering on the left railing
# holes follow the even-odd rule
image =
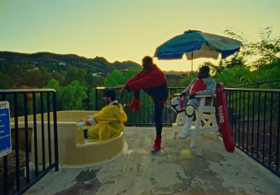
[[[8,101],[0,101],[0,158],[10,152],[10,106]]]

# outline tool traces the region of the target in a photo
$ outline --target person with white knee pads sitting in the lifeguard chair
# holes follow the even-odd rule
[[[181,115],[179,126],[183,126],[183,131],[178,138],[184,139],[190,136],[190,124],[195,115],[195,109],[200,105],[200,98],[195,96],[214,95],[216,93],[216,82],[209,75],[209,66],[202,66],[198,71],[198,76],[190,85],[181,93],[180,96],[172,99],[172,107],[176,110],[177,115]],[[206,105],[207,105],[206,101]]]

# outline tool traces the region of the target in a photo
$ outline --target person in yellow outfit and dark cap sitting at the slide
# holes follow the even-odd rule
[[[103,100],[108,106],[102,108],[97,113],[84,122],[79,122],[78,127],[83,127],[85,138],[107,140],[120,136],[125,129],[124,123],[127,122],[127,115],[123,106],[116,101],[116,92],[108,89],[104,92]]]

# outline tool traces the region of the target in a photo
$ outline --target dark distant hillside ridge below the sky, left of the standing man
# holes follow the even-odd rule
[[[50,68],[85,68],[87,71],[110,73],[114,69],[123,70],[127,68],[141,68],[140,64],[132,61],[127,62],[108,62],[104,57],[95,57],[88,59],[78,55],[58,55],[50,52],[37,52],[34,54],[25,54],[18,52],[0,52],[0,68],[9,68],[10,65],[35,64],[36,66],[45,66]]]

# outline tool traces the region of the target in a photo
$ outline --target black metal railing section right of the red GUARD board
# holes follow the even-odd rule
[[[226,89],[235,146],[280,176],[280,90]]]

